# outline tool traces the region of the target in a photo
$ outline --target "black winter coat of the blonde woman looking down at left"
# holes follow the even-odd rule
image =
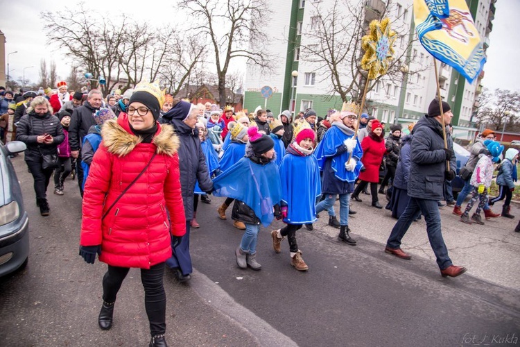
[[[39,135],[44,134],[53,137],[52,144],[39,144],[36,141]],[[47,112],[44,117],[31,112],[21,117],[16,130],[16,139],[27,145],[26,162],[40,162],[43,154],[58,154],[58,144],[63,142],[65,135],[60,120],[51,115],[51,112]]]

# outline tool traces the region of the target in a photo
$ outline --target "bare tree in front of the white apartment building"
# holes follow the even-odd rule
[[[367,9],[368,2],[363,0],[357,3],[334,0],[333,6],[327,8],[320,2],[311,4],[314,6],[311,24],[309,28],[304,29],[309,42],[299,47],[300,60],[314,62],[317,70],[327,71],[322,76],[322,81],[329,80],[329,97],[339,94],[343,101],[347,101],[349,96],[352,96],[354,101],[361,101],[367,81],[367,71],[361,69],[361,38],[367,33],[369,20],[381,20],[388,16],[388,11],[393,6],[392,1],[381,1],[383,6],[376,10]],[[372,17],[367,17],[367,11],[372,11]],[[403,24],[392,25],[392,30],[402,33],[401,40],[406,40],[407,43],[410,35],[413,35]],[[400,85],[402,79],[406,78],[401,72],[406,53],[407,48],[396,53],[384,75],[395,85]],[[426,68],[422,67],[419,71]],[[419,71],[409,71],[408,75]],[[382,76],[379,76],[373,80],[367,92],[370,92],[381,78]]]

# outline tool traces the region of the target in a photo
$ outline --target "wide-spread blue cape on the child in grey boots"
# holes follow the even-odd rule
[[[214,196],[243,201],[268,226],[274,215],[272,207],[281,201],[280,174],[275,162],[261,165],[242,158],[213,180]]]

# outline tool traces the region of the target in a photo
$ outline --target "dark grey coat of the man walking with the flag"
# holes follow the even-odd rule
[[[424,116],[417,121],[413,128],[410,160],[408,196],[443,200],[446,153],[442,125],[437,119]]]

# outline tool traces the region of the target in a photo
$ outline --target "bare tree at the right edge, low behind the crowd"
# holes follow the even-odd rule
[[[485,89],[478,99],[477,124],[494,130],[514,130],[520,122],[520,93],[496,89],[493,94]]]

